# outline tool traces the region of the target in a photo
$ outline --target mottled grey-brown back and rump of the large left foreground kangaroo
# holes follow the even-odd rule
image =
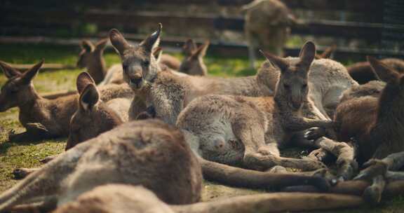
[[[175,174],[175,175],[170,175]],[[170,204],[196,202],[201,167],[179,130],[161,121],[120,125],[83,142],[0,195],[0,212],[43,195],[58,205],[105,184],[142,185]]]

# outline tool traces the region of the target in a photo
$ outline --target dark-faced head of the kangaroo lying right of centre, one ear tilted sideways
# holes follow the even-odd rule
[[[292,109],[300,109],[309,92],[308,77],[311,62],[316,55],[316,46],[309,41],[300,50],[299,60],[285,60],[270,53],[264,53],[269,62],[281,70],[276,85],[276,96],[286,99]]]

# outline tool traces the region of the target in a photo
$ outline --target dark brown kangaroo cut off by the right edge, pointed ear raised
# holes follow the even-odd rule
[[[335,139],[338,142],[356,144],[358,147],[355,157],[360,165],[365,166],[377,162],[377,160],[371,160],[372,158],[388,158],[389,154],[404,151],[404,143],[402,142],[404,129],[403,125],[401,125],[404,121],[402,110],[404,107],[404,74],[394,71],[374,57],[368,57],[368,62],[377,78],[386,83],[382,92],[376,97],[365,95],[346,99],[337,107],[334,118],[334,121],[337,123]],[[317,130],[309,130],[310,139],[318,137],[320,137],[320,140],[327,139],[322,137],[323,134],[318,134]],[[365,163],[367,160],[370,161]],[[400,160],[393,160],[393,163],[389,164],[395,163],[397,165],[391,167],[398,169],[403,165]],[[357,179],[366,176],[372,177],[374,185],[364,193],[364,196],[378,202],[385,181],[381,176],[382,172],[373,172],[373,174],[377,175],[372,176],[368,171],[365,170],[365,172],[362,172]]]

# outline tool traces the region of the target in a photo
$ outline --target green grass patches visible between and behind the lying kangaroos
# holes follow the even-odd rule
[[[48,63],[75,64],[79,53],[79,47],[65,46],[37,46],[37,45],[2,45],[0,60],[12,63],[36,63],[44,58]],[[180,55],[175,55],[181,57]],[[105,53],[108,65],[119,63],[119,57],[111,49]],[[248,76],[255,71],[248,69],[247,58],[223,58],[208,56],[205,60],[210,74],[215,76]],[[39,92],[56,90],[74,90],[75,78],[81,70],[60,70],[39,73],[34,79],[34,85]],[[0,74],[0,85],[6,78]],[[61,153],[65,148],[66,139],[52,139],[35,143],[8,142],[8,132],[24,129],[18,122],[18,109],[9,109],[0,113],[0,192],[5,191],[17,183],[11,172],[18,167],[39,167],[39,160],[56,153]],[[298,155],[299,151],[290,151],[288,156]],[[262,191],[245,188],[232,188],[207,182],[203,186],[203,200],[214,200],[222,197],[234,197],[236,195],[248,195],[262,193]],[[363,207],[361,209],[345,209],[330,212],[402,212],[404,197],[393,198],[384,202],[379,207]]]

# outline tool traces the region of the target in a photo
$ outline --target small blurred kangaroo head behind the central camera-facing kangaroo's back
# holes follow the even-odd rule
[[[188,39],[182,47],[185,57],[179,71],[190,75],[206,76],[208,69],[203,62],[203,57],[206,55],[208,47],[209,41],[196,48],[196,43],[192,39]]]

